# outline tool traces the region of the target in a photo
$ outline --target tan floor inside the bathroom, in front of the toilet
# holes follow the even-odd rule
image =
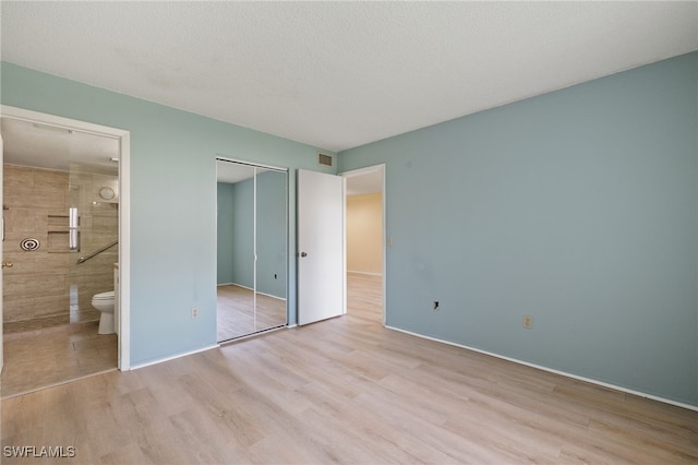
[[[4,335],[0,396],[12,397],[117,369],[117,335],[99,322]]]

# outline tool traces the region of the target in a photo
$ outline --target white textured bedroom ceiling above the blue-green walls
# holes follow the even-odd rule
[[[2,60],[341,151],[698,49],[698,2],[12,2]]]

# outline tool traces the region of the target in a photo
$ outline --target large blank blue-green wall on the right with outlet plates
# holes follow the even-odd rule
[[[697,63],[340,153],[386,164],[387,324],[698,405]]]

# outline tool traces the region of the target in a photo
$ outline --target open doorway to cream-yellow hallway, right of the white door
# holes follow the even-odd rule
[[[385,165],[340,176],[347,179],[347,311],[385,325]]]

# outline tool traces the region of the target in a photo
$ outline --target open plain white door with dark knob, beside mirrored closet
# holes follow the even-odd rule
[[[298,170],[298,324],[347,312],[345,186],[339,176]]]

